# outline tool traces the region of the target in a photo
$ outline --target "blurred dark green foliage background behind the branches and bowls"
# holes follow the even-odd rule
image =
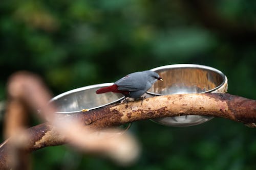
[[[224,72],[229,93],[256,99],[253,0],[4,0],[0,14],[1,125],[17,70],[38,74],[57,95],[162,65],[203,64]],[[256,169],[255,129],[228,119],[184,128],[144,120],[130,131],[142,147],[131,166],[59,146],[33,152],[33,169]]]

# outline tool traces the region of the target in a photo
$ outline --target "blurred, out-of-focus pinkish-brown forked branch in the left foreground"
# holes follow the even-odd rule
[[[0,145],[0,169],[30,169],[29,152],[68,142],[80,151],[106,155],[119,164],[132,163],[139,154],[138,144],[129,133],[115,129],[93,130],[79,119],[62,119],[49,104],[51,95],[39,77],[26,71],[11,76],[8,82],[5,137]],[[40,108],[48,123],[26,128],[31,109]],[[37,113],[37,111],[36,111]]]

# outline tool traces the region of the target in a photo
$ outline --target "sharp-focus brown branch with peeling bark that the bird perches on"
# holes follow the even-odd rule
[[[142,119],[180,115],[205,115],[231,119],[236,122],[254,125],[256,123],[256,101],[223,93],[174,94],[156,96],[139,101],[106,106],[78,114],[58,115],[61,119],[77,119],[84,126],[102,129],[135,122]],[[67,142],[48,123],[28,129],[31,134],[27,151],[60,145]],[[0,165],[3,164],[5,147],[0,147]],[[1,167],[1,166],[0,166]]]

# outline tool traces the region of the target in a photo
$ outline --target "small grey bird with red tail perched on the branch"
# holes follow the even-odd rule
[[[151,70],[133,72],[119,80],[113,85],[102,87],[96,91],[97,94],[105,92],[122,93],[126,98],[140,98],[158,80],[163,79]]]

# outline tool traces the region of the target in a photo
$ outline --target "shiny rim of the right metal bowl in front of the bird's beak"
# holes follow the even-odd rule
[[[226,79],[227,79],[227,77],[220,70],[210,67],[210,66],[199,65],[199,64],[172,64],[172,65],[164,65],[164,66],[152,68],[151,70],[157,71],[157,70],[166,69],[166,68],[171,68],[171,69],[173,69],[173,68],[201,68],[201,69],[214,71],[223,78],[223,81],[219,86],[217,86],[213,89],[204,91],[204,92],[200,92],[200,93],[212,92],[212,91],[215,91],[216,89],[219,89],[221,86],[223,86],[225,84]],[[158,94],[158,93],[154,93],[154,92],[150,92],[150,91],[146,91],[146,93],[151,94],[151,95],[167,95],[167,94]]]

